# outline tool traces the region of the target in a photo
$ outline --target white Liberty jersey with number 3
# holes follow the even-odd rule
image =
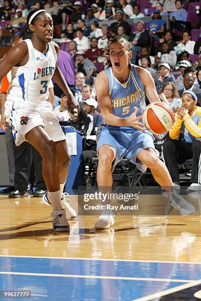
[[[28,47],[28,61],[24,66],[14,66],[7,101],[14,107],[38,107],[49,97],[49,83],[55,70],[57,54],[52,42],[48,43],[47,54],[36,50],[30,39],[24,40]]]

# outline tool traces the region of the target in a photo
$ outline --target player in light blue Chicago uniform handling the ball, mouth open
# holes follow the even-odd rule
[[[150,102],[160,99],[150,72],[131,65],[131,57],[129,42],[121,37],[115,38],[110,44],[107,68],[96,78],[97,99],[103,118],[97,141],[98,185],[100,190],[111,192],[112,170],[125,156],[142,172],[149,167],[155,181],[167,191],[171,205],[182,215],[190,214],[195,211],[194,206],[176,194],[168,169],[156,155],[152,135],[140,121],[146,108],[145,93]],[[103,204],[108,203],[106,200]],[[113,213],[104,210],[95,228],[107,229],[113,224]]]

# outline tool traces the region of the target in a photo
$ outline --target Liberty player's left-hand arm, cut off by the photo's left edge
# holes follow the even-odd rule
[[[28,61],[28,47],[25,42],[13,46],[0,61],[0,80],[17,64]]]

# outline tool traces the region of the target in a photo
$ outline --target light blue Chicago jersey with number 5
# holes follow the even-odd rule
[[[112,68],[105,69],[109,80],[109,94],[112,103],[112,113],[119,118],[127,118],[138,108],[137,116],[142,115],[146,108],[145,87],[142,85],[134,65],[131,65],[130,75],[126,83],[121,84],[113,75]],[[133,129],[128,126],[111,126],[115,129]]]

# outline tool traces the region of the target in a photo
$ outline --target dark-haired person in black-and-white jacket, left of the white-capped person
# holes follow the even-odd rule
[[[94,118],[85,112],[84,109],[80,107],[80,113],[75,116],[74,108],[71,107],[68,111],[70,116],[71,125],[75,127],[76,130],[81,132],[82,137],[90,136],[94,132]]]

